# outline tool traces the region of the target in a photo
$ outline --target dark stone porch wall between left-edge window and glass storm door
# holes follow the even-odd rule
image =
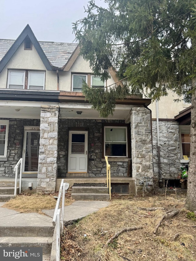
[[[24,126],[40,126],[40,120],[7,119],[9,120],[7,161],[0,161],[0,177],[15,177],[14,167],[22,157]],[[19,143],[19,145],[16,145]]]

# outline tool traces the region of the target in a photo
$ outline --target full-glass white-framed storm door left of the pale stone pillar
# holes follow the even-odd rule
[[[40,131],[24,130],[24,141],[23,141],[23,151],[22,151],[22,158],[23,158],[22,172],[28,174],[27,177],[37,176],[39,147],[40,147]]]

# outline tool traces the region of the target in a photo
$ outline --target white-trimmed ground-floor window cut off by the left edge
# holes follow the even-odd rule
[[[7,156],[9,121],[0,120],[0,157]]]

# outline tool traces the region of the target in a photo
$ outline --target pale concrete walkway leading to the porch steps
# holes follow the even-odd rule
[[[55,209],[43,210],[46,215],[38,213],[20,213],[2,207],[5,202],[0,202],[0,227],[44,227],[52,226]],[[64,208],[64,223],[71,224],[74,220],[81,219],[100,208],[107,207],[108,201],[74,201]],[[11,235],[10,235],[11,236]],[[43,261],[50,260],[50,255],[43,255]]]

